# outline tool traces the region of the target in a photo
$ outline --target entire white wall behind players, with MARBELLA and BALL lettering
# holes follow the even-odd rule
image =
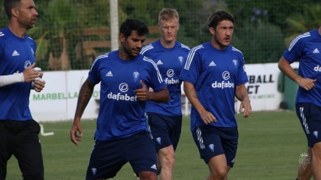
[[[248,64],[245,67],[249,77],[249,83],[246,86],[252,111],[279,109],[283,95],[277,90],[280,74],[277,63]],[[298,64],[294,64],[294,67],[298,67]],[[33,90],[30,93],[30,110],[33,119],[38,122],[72,120],[80,87],[87,76],[88,70],[44,72],[45,88],[40,93]],[[184,93],[183,90],[182,93]],[[100,84],[97,84],[83,119],[97,118],[99,105],[95,99],[99,99],[99,96]],[[185,115],[189,114],[189,109],[187,110],[186,107],[188,106],[182,107]]]

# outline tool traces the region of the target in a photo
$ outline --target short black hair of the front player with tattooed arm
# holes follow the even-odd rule
[[[119,28],[119,33],[124,34],[125,38],[127,38],[133,30],[137,31],[139,36],[147,35],[150,32],[143,21],[127,18]]]

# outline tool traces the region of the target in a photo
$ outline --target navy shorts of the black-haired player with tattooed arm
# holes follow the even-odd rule
[[[114,141],[95,140],[86,180],[113,178],[127,162],[136,175],[142,171],[157,174],[156,150],[149,132]]]

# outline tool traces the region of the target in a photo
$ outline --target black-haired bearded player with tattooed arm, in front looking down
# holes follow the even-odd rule
[[[80,118],[100,82],[99,115],[86,180],[113,178],[127,162],[142,180],[157,180],[157,156],[145,105],[147,100],[167,102],[169,92],[154,61],[140,54],[148,32],[142,21],[126,19],[120,27],[120,49],[98,56],[80,89],[70,131],[76,145],[82,137]]]

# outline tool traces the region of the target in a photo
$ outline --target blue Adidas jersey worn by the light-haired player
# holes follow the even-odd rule
[[[175,46],[172,48],[165,48],[160,44],[160,40],[154,41],[142,49],[141,54],[153,59],[157,64],[170,94],[170,100],[167,103],[148,101],[146,112],[167,116],[182,114],[180,100],[182,81],[178,77],[189,50],[189,47],[179,42],[175,42]]]

